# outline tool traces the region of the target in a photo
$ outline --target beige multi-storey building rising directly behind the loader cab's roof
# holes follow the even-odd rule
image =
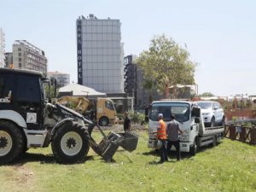
[[[13,62],[15,68],[47,73],[47,58],[44,50],[38,49],[26,40],[16,40],[13,44]]]

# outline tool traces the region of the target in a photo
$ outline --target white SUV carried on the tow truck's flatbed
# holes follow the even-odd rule
[[[206,126],[224,125],[224,110],[218,102],[200,101],[195,102],[201,107],[202,116]]]

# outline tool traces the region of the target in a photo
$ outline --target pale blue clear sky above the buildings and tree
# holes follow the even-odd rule
[[[26,40],[44,50],[49,71],[76,83],[76,20],[119,19],[125,55],[139,55],[165,34],[198,63],[199,94],[256,95],[255,10],[254,0],[0,0],[0,27],[6,52]]]

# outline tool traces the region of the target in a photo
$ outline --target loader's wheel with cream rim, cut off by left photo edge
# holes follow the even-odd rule
[[[9,121],[0,122],[0,164],[9,163],[21,154],[24,138],[19,128]]]

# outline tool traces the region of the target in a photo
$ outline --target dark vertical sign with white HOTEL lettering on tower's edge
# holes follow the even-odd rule
[[[83,84],[82,65],[82,20],[77,20],[77,44],[78,44],[78,84]]]

